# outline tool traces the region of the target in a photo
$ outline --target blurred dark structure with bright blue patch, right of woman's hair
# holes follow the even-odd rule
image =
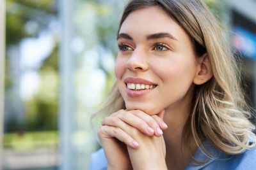
[[[233,45],[244,59],[244,89],[256,106],[256,1],[228,1]]]

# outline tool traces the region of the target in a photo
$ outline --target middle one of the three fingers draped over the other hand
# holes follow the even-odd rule
[[[127,111],[116,115],[116,117],[104,118],[102,120],[102,125],[120,127],[124,131],[128,131],[131,127],[134,127],[147,136],[154,135],[154,130],[149,127],[146,122]],[[129,125],[130,127],[127,125]]]

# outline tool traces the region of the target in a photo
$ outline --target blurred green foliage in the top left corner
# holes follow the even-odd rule
[[[56,1],[52,0],[7,0],[6,1],[6,46],[17,44],[22,38],[38,36],[47,26],[50,17],[57,14]],[[28,34],[24,25],[35,20],[38,30]]]

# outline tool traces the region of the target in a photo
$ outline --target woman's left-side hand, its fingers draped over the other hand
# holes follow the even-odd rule
[[[104,118],[102,120],[102,125],[103,126],[98,131],[98,136],[108,159],[109,169],[132,169],[125,145],[127,145],[128,148],[136,150],[137,148],[140,148],[139,143],[144,142],[138,137],[147,136],[150,139],[156,138],[156,136],[160,137],[163,134],[161,129],[164,130],[167,128],[167,125],[164,124],[161,118],[156,115],[151,117],[140,110],[117,111],[109,117]],[[163,136],[161,138],[163,138]],[[153,141],[159,141],[157,139],[158,138]],[[138,143],[139,140],[140,142]],[[135,153],[138,152],[131,153],[133,155],[132,158],[134,158],[136,157],[134,156],[136,155]],[[132,165],[133,164],[134,162]]]

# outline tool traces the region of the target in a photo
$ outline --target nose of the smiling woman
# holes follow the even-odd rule
[[[147,71],[147,54],[139,49],[134,50],[126,65],[130,71]]]

